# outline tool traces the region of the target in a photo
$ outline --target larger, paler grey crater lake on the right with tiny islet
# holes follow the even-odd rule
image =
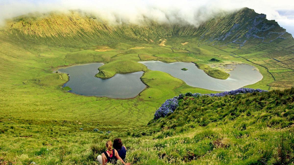
[[[212,78],[198,69],[193,63],[163,63],[160,61],[143,61],[150,70],[158,70],[179,78],[192,87],[200,87],[215,91],[235,90],[245,85],[250,85],[262,79],[262,75],[254,66],[248,64],[228,65],[226,69],[233,69],[229,72],[230,77],[226,80]],[[188,70],[181,70],[187,68]]]

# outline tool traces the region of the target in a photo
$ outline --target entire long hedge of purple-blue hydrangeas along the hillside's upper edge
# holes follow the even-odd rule
[[[225,95],[238,95],[242,93],[253,93],[253,92],[267,92],[267,90],[253,89],[253,88],[239,88],[236,90],[225,91],[220,93],[210,93],[210,94],[200,94],[200,93],[191,93],[187,92],[186,94],[180,94],[179,96],[173,97],[166,100],[158,110],[155,111],[154,119],[159,119],[165,117],[169,113],[173,113],[174,110],[178,107],[178,100],[183,99],[185,96],[188,97],[200,97],[200,96],[211,96],[211,97],[223,97]]]

